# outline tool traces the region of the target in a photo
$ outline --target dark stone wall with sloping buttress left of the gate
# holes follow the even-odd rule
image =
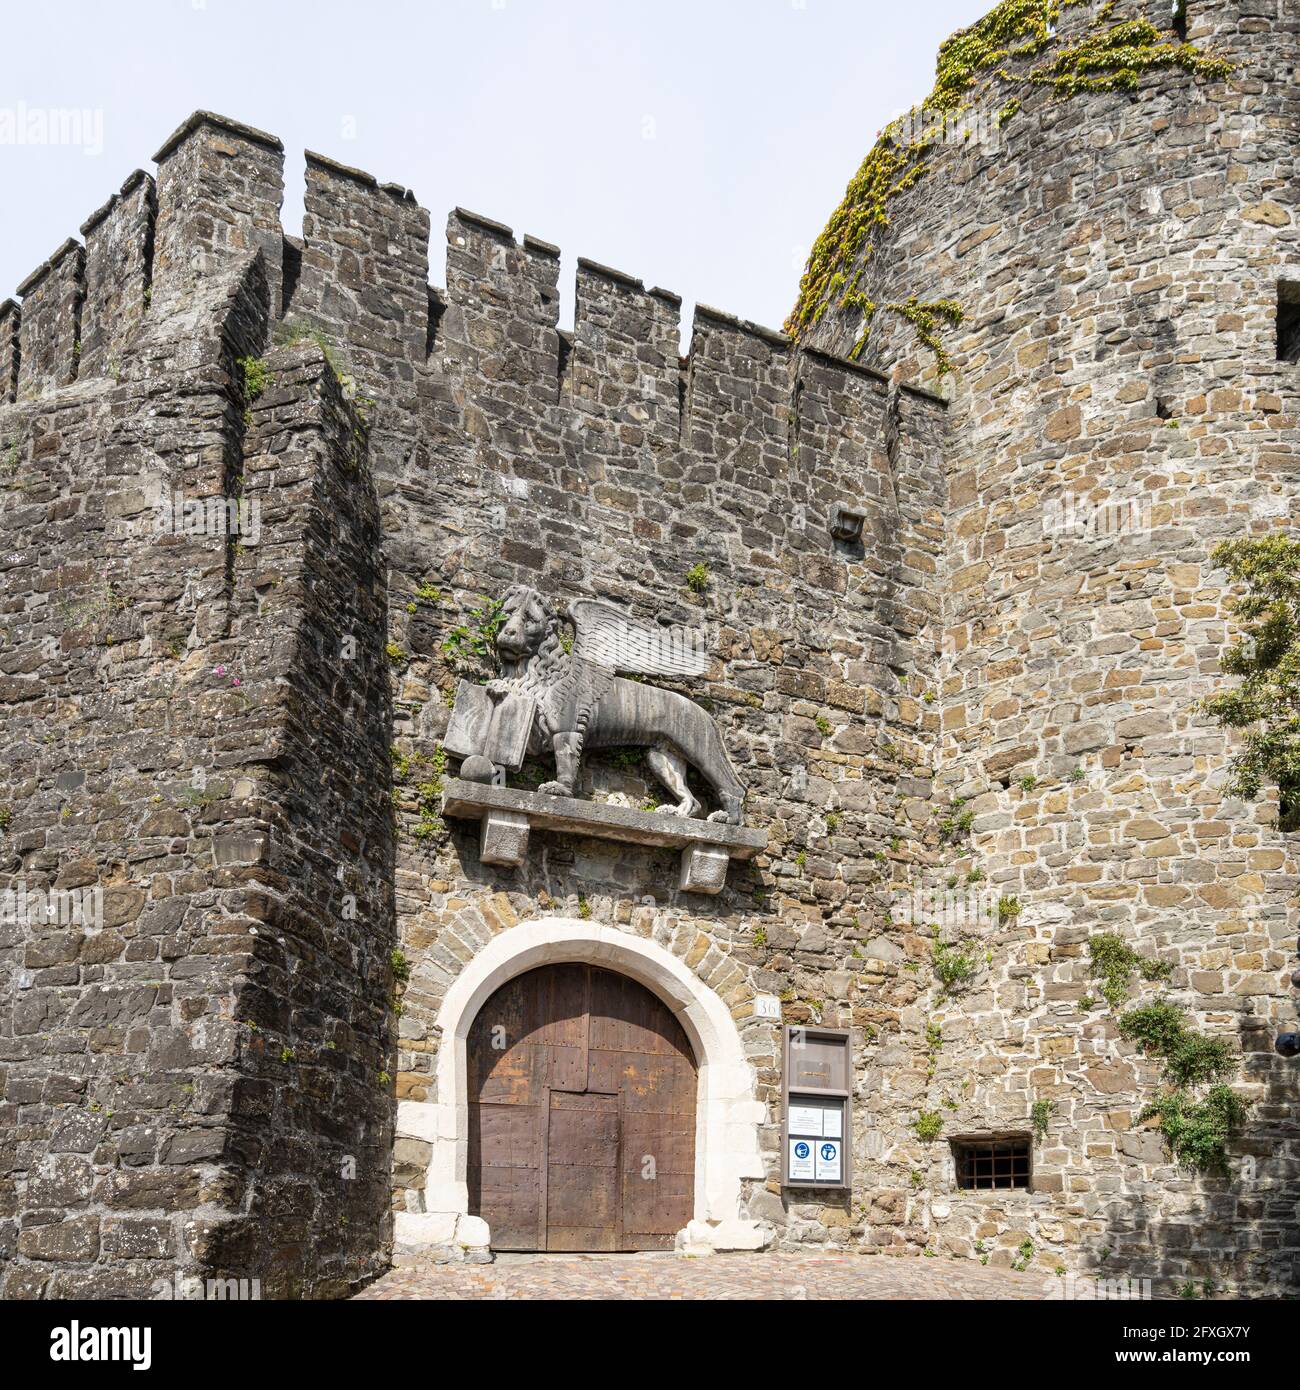
[[[101,892],[0,926],[4,1295],[341,1293],[389,1205],[378,513],[318,350],[242,398],[264,261],[182,282],[153,207],[136,175],[40,272],[0,409],[0,891]],[[259,543],[159,495],[254,503]]]

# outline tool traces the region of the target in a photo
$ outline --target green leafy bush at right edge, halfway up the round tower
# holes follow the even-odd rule
[[[1224,653],[1232,689],[1201,703],[1225,728],[1246,731],[1228,790],[1254,801],[1278,787],[1283,830],[1300,828],[1300,541],[1281,532],[1226,541],[1211,552],[1246,592],[1229,603],[1242,637]]]

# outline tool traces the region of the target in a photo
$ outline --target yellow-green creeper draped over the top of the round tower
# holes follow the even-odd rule
[[[890,225],[890,206],[930,172],[933,129],[955,113],[969,110],[976,100],[997,95],[1007,100],[997,111],[998,126],[1021,110],[1016,89],[1047,86],[1059,99],[1093,92],[1136,92],[1144,74],[1179,68],[1199,78],[1224,78],[1229,63],[1185,43],[1171,29],[1150,19],[1115,21],[1114,0],[1103,6],[1087,31],[1062,39],[1057,24],[1064,10],[1087,0],[1001,0],[983,19],[959,29],[939,50],[934,89],[908,118],[893,121],[881,131],[870,154],[851,179],[844,199],[808,257],[799,297],[786,320],[791,338],[804,336],[829,307],[858,310],[862,327],[850,352],[856,360],[866,348],[877,306],[858,288],[875,252],[873,238]],[[1036,60],[1044,60],[1030,67]],[[916,118],[920,120],[916,120]],[[919,128],[919,135],[909,132]],[[940,338],[940,321],[961,321],[951,300],[925,303],[913,292],[900,313],[934,353],[940,374],[950,363]],[[955,310],[955,313],[952,313]]]

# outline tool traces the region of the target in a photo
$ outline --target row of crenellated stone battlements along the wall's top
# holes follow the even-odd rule
[[[783,334],[698,306],[681,356],[680,296],[583,259],[562,332],[559,247],[457,207],[445,289],[430,284],[430,215],[399,183],[304,156],[302,238],[284,232],[284,146],[196,111],[0,310],[8,399],[115,377],[140,325],[199,278],[260,252],[271,322],[336,346],[356,389],[412,406],[417,378],[496,418],[560,411],[599,448],[720,436],[759,470],[786,468],[804,430],[801,356]],[[8,361],[8,357],[6,357]],[[872,374],[823,357],[819,374]],[[884,378],[879,378],[883,386]],[[837,399],[844,399],[843,392]],[[934,398],[937,399],[937,398]],[[823,407],[824,409],[824,407]],[[812,430],[816,434],[816,430]]]

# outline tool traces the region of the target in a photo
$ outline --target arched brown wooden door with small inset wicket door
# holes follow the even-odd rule
[[[670,1248],[694,1215],[699,1083],[663,1001],[544,965],[501,986],[466,1041],[469,1207],[494,1248]]]

